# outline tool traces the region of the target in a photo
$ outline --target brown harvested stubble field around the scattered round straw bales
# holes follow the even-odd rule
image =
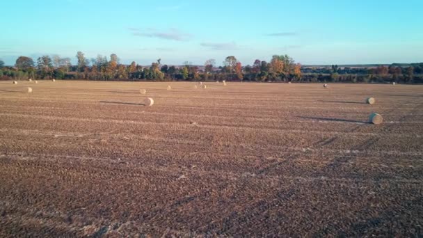
[[[423,86],[194,85],[0,82],[0,237],[423,235]]]

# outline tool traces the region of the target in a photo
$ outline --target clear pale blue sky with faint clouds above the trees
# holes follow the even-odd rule
[[[423,62],[423,1],[5,0],[0,59],[117,54],[121,63]]]

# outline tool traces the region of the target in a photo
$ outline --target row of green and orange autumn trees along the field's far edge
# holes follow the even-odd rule
[[[392,64],[376,68],[349,68],[332,65],[326,68],[302,67],[288,55],[273,55],[269,62],[256,59],[252,65],[243,66],[235,56],[228,56],[222,66],[209,59],[204,65],[166,65],[159,58],[151,65],[136,62],[120,63],[116,54],[109,58],[98,55],[86,58],[78,51],[77,65],[70,58],[54,55],[31,57],[19,56],[14,67],[6,67],[0,60],[0,79],[86,79],[104,81],[301,81],[301,82],[404,82],[423,83],[423,63],[404,67]]]

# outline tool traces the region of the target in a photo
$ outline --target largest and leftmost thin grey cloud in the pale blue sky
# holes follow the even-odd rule
[[[188,41],[192,35],[184,33],[175,28],[170,28],[167,31],[159,31],[154,28],[139,29],[129,27],[128,30],[135,36],[147,37],[147,38],[160,38],[164,40],[176,40],[176,41]]]

